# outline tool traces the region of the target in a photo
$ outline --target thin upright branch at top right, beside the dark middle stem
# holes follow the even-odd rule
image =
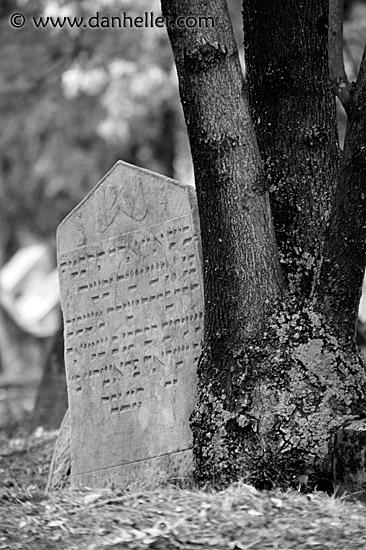
[[[343,1],[329,0],[329,75],[336,96],[347,110],[351,84],[343,59]]]

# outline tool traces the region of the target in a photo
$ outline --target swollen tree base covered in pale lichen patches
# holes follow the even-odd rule
[[[285,488],[303,475],[333,476],[332,434],[363,415],[365,368],[310,302],[297,305],[282,304],[235,357],[230,399],[201,382],[192,416],[199,483]]]

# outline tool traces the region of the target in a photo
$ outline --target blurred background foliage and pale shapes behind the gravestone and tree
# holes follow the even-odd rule
[[[241,1],[228,3],[245,71]],[[57,225],[119,159],[194,183],[165,29],[9,24],[14,12],[30,18],[97,11],[158,16],[160,2],[0,0],[0,430],[24,418],[57,428],[67,406]],[[345,2],[344,37],[354,80],[365,1]],[[342,146],[346,116],[339,105],[338,115]]]

